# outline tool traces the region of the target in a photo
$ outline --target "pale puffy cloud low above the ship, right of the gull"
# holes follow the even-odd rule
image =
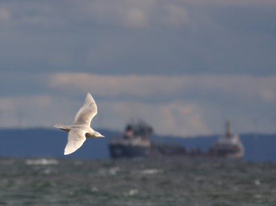
[[[156,133],[163,135],[183,136],[210,133],[204,124],[202,111],[196,104],[184,102],[150,104],[131,101],[110,104],[110,102],[100,101],[99,111],[106,111],[102,119],[112,129],[122,130],[130,120],[141,119],[148,122]]]

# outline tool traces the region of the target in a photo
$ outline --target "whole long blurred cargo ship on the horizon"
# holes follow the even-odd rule
[[[179,144],[169,142],[152,142],[150,135],[152,127],[146,122],[133,122],[126,126],[122,135],[116,135],[109,142],[111,158],[137,158],[157,156],[189,156],[189,157],[219,157],[242,158],[244,147],[238,135],[230,133],[230,123],[226,122],[226,135],[214,142],[207,152],[201,152],[197,147],[187,149]]]

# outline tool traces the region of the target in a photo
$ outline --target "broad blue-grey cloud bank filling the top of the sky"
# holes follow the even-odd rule
[[[1,70],[275,74],[262,2],[1,1]]]

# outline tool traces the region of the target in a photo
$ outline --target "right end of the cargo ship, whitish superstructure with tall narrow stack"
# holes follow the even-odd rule
[[[226,135],[212,144],[209,154],[224,158],[242,158],[244,156],[244,147],[239,136],[230,133],[230,122],[226,122]]]

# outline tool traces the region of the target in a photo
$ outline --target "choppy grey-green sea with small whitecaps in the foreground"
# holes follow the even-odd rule
[[[0,158],[0,205],[276,205],[276,164]]]

